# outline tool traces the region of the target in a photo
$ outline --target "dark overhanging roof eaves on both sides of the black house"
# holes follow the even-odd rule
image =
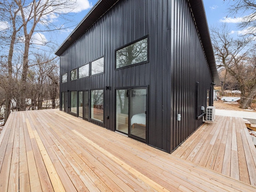
[[[102,17],[116,2],[119,0],[99,0],[93,8],[86,14],[83,20],[76,26],[72,33],[66,38],[62,45],[55,52],[57,56],[60,56],[73,42],[75,42],[86,30],[88,30],[100,17]],[[212,42],[210,38],[209,28],[206,20],[206,14],[204,11],[204,4],[202,0],[188,0],[198,32],[200,34],[202,46],[206,59],[212,74],[212,78],[215,83],[219,82],[218,71],[216,68],[214,52],[212,49]]]

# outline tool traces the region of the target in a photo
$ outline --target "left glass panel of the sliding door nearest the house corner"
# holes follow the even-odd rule
[[[116,130],[128,134],[128,90],[116,90]]]

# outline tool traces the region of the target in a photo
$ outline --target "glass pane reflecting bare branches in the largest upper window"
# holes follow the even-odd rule
[[[116,68],[148,61],[148,38],[116,51]]]

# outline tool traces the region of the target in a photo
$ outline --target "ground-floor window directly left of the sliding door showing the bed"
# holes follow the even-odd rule
[[[91,118],[103,122],[104,90],[91,91]]]

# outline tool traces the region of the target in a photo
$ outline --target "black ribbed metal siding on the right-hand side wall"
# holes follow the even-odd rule
[[[206,90],[210,89],[212,79],[188,2],[168,0],[168,10],[166,46],[170,66],[166,68],[170,68],[171,78],[166,80],[171,82],[167,87],[171,104],[163,106],[170,107],[166,110],[170,117],[167,120],[170,148],[167,148],[172,151],[202,124],[202,119],[196,120],[196,82],[199,82],[200,109],[206,107]],[[201,110],[198,112],[201,114]],[[177,114],[181,114],[181,121],[176,120]]]

